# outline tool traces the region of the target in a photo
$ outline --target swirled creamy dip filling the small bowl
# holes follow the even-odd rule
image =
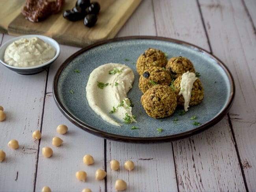
[[[21,38],[7,46],[4,62],[17,67],[41,65],[55,55],[55,49],[38,37]]]

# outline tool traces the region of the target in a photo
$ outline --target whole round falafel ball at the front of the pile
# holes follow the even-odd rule
[[[149,116],[164,118],[175,111],[177,98],[170,86],[155,85],[141,96],[141,103]]]

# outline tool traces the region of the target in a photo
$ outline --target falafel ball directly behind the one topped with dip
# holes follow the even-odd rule
[[[187,71],[195,73],[195,68],[193,63],[186,57],[172,57],[169,59],[165,66],[166,70],[171,72],[171,77],[173,79],[178,78],[178,76],[186,73]]]

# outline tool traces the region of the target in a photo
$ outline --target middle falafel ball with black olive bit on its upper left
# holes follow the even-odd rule
[[[171,76],[165,68],[152,66],[139,77],[139,89],[145,93],[155,85],[170,85],[171,81]]]

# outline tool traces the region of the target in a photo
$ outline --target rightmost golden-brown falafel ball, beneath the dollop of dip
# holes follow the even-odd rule
[[[184,98],[182,95],[178,95],[180,92],[180,82],[181,82],[182,76],[178,76],[177,79],[173,82],[173,86],[175,89],[175,93],[177,95],[177,103],[178,105],[184,105]],[[197,105],[204,99],[204,87],[202,85],[202,82],[200,79],[196,79],[193,83],[193,87],[191,90],[191,98],[189,100],[189,105]]]

